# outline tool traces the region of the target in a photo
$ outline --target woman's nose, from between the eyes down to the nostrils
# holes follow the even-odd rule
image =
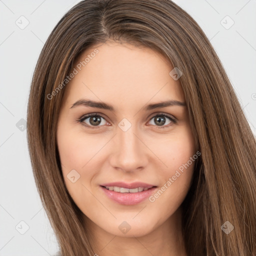
[[[117,127],[117,134],[111,143],[109,161],[115,169],[132,172],[141,170],[147,165],[149,150],[135,125],[131,125],[126,131]]]

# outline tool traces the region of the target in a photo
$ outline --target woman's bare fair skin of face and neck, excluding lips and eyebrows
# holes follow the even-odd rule
[[[84,213],[94,252],[99,256],[120,252],[124,256],[186,255],[180,204],[194,162],[154,202],[146,199],[122,205],[108,198],[99,186],[142,181],[160,188],[195,154],[186,106],[142,109],[170,99],[185,102],[179,80],[169,75],[173,67],[160,53],[112,41],[86,49],[73,67],[95,48],[99,52],[65,87],[57,125],[65,185]],[[106,102],[114,110],[71,107],[83,98]],[[175,117],[176,123],[165,118],[160,125],[154,120],[159,112]],[[88,113],[103,117],[96,127],[90,124],[90,117],[83,121],[90,126],[77,121]],[[123,118],[131,124],[126,131],[118,126]],[[67,178],[72,169],[80,175],[74,183]],[[123,221],[130,225],[125,234],[118,228]]]

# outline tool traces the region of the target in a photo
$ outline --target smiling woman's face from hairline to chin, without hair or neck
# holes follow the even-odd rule
[[[177,212],[197,157],[178,76],[156,51],[113,42],[73,68],[57,125],[68,192],[91,225],[148,234]]]

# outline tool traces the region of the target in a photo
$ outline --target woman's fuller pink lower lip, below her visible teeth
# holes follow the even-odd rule
[[[120,193],[115,192],[112,190],[108,190],[103,186],[100,186],[104,193],[112,200],[124,204],[124,205],[133,205],[138,204],[148,198],[150,194],[157,188],[157,187],[151,187],[145,191],[136,192],[136,193]]]

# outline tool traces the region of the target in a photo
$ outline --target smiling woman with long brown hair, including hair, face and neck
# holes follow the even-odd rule
[[[255,255],[255,140],[172,1],[71,8],[39,56],[27,132],[61,255]]]

